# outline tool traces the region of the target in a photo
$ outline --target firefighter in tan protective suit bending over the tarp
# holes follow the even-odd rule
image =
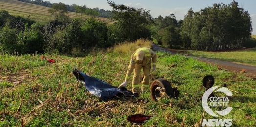
[[[149,88],[149,73],[151,69],[151,63],[153,64],[154,71],[156,69],[157,55],[150,48],[139,48],[132,55],[128,70],[126,73],[125,81],[119,87],[126,87],[129,79],[131,79],[131,73],[133,71],[132,79],[132,92],[134,96],[139,96],[140,91],[140,72],[141,68],[143,69],[143,81],[142,81],[142,92]]]

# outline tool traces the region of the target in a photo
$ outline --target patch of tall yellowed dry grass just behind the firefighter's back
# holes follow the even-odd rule
[[[112,48],[108,48],[108,52],[113,52],[115,54],[132,54],[140,47],[151,48],[152,43],[153,41],[148,39],[138,39],[134,42],[125,41],[124,43],[119,43]]]

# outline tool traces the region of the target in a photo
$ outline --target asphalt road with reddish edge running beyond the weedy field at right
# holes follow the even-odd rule
[[[174,52],[171,52],[155,44],[153,44],[153,49],[155,51],[165,51],[171,54],[176,54]],[[216,65],[218,68],[235,72],[235,73],[240,73],[243,69],[245,69],[246,76],[256,78],[256,66],[238,64],[238,63],[233,63],[228,61],[221,61],[221,60],[202,58],[202,57],[193,57],[193,56],[187,56],[187,55],[184,55],[184,56],[191,57],[202,62],[210,63],[212,65]]]

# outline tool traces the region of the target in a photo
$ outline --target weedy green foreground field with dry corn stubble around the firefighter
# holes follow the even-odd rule
[[[234,74],[181,55],[157,52],[157,69],[151,72],[150,83],[165,78],[180,90],[179,99],[150,99],[150,91],[139,98],[108,102],[77,84],[71,73],[77,67],[89,76],[114,86],[124,81],[130,54],[138,47],[150,47],[149,41],[124,43],[107,51],[97,51],[83,58],[44,54],[53,64],[41,60],[43,55],[0,55],[0,127],[131,127],[128,115],[153,115],[144,127],[198,127],[203,108],[202,78],[213,75],[214,86],[227,84],[233,92],[229,98],[232,111],[220,118],[233,119],[232,127],[256,126],[255,79]],[[171,67],[172,64],[177,66]],[[142,78],[142,74],[141,74]],[[131,90],[131,81],[128,83]],[[219,94],[216,94],[219,95]],[[222,110],[223,108],[213,108]],[[183,120],[183,118],[186,118]],[[206,113],[206,119],[214,118]]]

